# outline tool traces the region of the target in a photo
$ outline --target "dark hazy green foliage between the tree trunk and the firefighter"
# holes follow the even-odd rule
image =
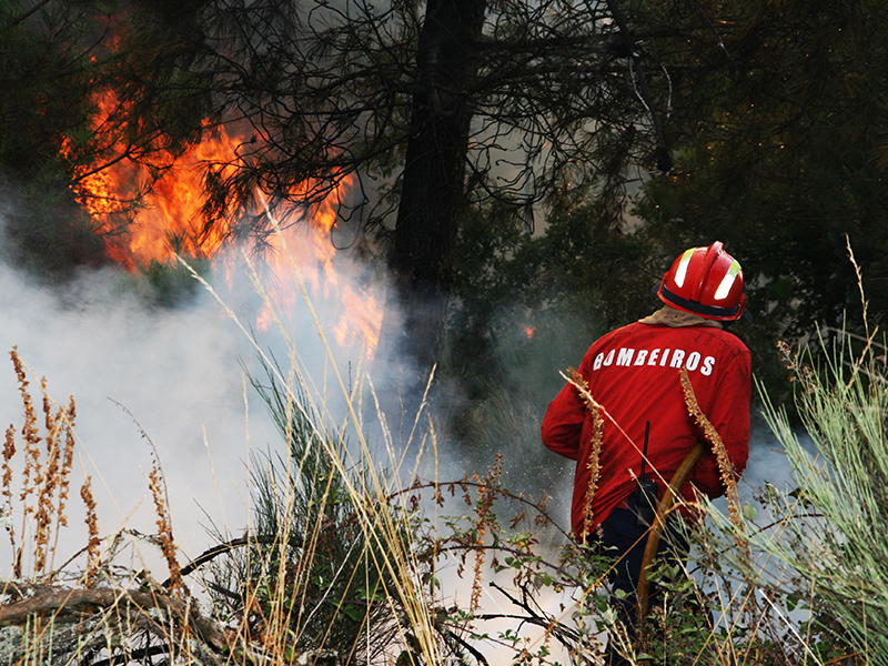
[[[457,434],[480,448],[539,448],[536,428],[564,385],[559,372],[610,327],[660,305],[652,290],[665,266],[652,252],[642,234],[603,225],[593,204],[553,213],[535,234],[509,208],[468,215],[442,366],[465,398],[451,405]],[[534,432],[507,427],[506,414],[526,416]]]

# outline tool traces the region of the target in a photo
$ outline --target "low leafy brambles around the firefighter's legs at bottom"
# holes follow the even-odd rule
[[[700,557],[702,571],[693,569],[692,561],[655,562],[650,579],[663,604],[652,606],[630,637],[608,585],[619,554],[578,547],[551,522],[545,496],[534,502],[504,486],[502,463],[484,476],[414,484],[410,491],[433,493],[446,527],[424,522],[417,532],[432,567],[426,582],[437,582],[455,562],[463,587],[473,591],[468,602],[440,608],[444,639],[464,636],[481,652],[495,646],[513,664],[552,666],[601,658],[632,666],[796,666],[847,662],[851,655],[834,632],[787,617],[800,597],[749,582],[736,585],[738,569],[728,566],[725,544],[712,541],[706,543],[713,551]],[[478,602],[482,588],[493,602]],[[835,623],[834,615],[823,619]],[[532,638],[531,627],[543,629],[542,637]]]

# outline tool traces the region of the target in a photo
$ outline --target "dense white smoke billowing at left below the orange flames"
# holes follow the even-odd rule
[[[248,526],[251,454],[269,448],[282,453],[283,444],[244,371],[265,379],[250,340],[255,292],[242,260],[218,272],[214,286],[248,332],[202,287],[184,305],[158,307],[121,269],[84,270],[63,286],[41,286],[33,275],[0,262],[0,425],[14,426],[21,448],[23,408],[9,359],[13,346],[36,375],[29,376],[29,390],[38,411],[40,377],[47,379],[57,403],[69,395],[77,403],[71,527],[57,548],[57,566],[87,543],[78,496],[81,464],[92,477],[103,536],[122,527],[157,533],[147,480],[152,444],[169,493],[180,563],[215,543],[208,532],[211,525],[233,536]],[[346,273],[339,279],[349,281]],[[332,327],[327,317],[334,307],[321,303],[317,313],[322,327]],[[303,370],[327,386],[322,390],[327,407],[342,404],[321,341],[324,331],[317,330],[304,302],[293,303],[285,314],[297,324]],[[274,353],[286,370],[290,359],[280,332],[272,327],[256,335],[260,349]],[[347,382],[350,369],[360,364],[362,343],[340,347],[332,336],[329,342]],[[13,506],[17,532],[20,511]],[[157,553],[143,555],[160,562]],[[0,575],[10,572],[12,556],[11,547],[0,545]],[[159,579],[165,576],[165,571],[155,573]]]

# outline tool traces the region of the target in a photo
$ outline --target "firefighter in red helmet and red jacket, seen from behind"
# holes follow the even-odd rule
[[[576,461],[571,521],[575,538],[618,557],[612,588],[623,591],[618,609],[630,633],[650,521],[649,515],[639,516],[639,481],[643,474],[649,477],[662,498],[684,458],[704,438],[688,415],[682,367],[725,444],[733,474],[746,467],[749,444],[749,350],[725,330],[726,323],[745,314],[739,263],[720,242],[692,248],[663,276],[657,295],[665,303],[660,310],[597,340],[578,369],[603,407],[599,474],[593,480],[592,497],[589,455],[596,426],[574,384],[568,382],[548,405],[542,427],[546,447]],[[718,497],[725,491],[707,446],[680,487],[679,513],[694,517],[696,492]],[[660,551],[684,555],[687,543],[672,527],[667,523]],[[650,598],[655,595],[652,591]]]

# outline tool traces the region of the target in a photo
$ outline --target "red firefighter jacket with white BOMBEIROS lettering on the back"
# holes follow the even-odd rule
[[[679,369],[685,365],[700,408],[725,443],[735,474],[746,467],[749,451],[749,350],[718,327],[672,327],[634,323],[596,341],[583,359],[579,374],[603,414],[601,476],[592,501],[593,524],[599,525],[635,491],[642,472],[645,425],[650,422],[645,474],[663,492],[703,432],[688,415]],[[608,416],[609,415],[609,416]],[[543,443],[577,461],[572,527],[581,536],[589,484],[588,456],[592,414],[577,389],[568,383],[548,406]],[[718,497],[725,487],[712,446],[682,486],[685,500],[693,487]],[[685,511],[686,515],[689,515]]]

